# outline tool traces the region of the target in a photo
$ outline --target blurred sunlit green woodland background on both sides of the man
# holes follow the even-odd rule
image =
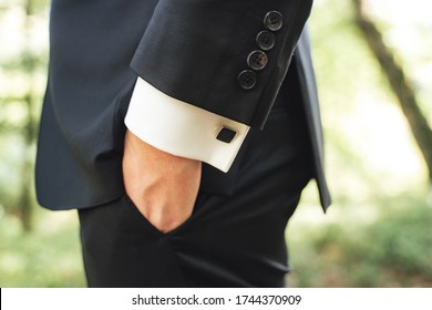
[[[410,81],[421,116],[429,120],[426,143],[419,147],[413,126],[421,122],[408,122],[412,115],[402,112],[398,90],[356,23],[358,2],[315,1],[310,29],[335,203],[323,215],[315,184],[305,190],[287,229],[294,267],[289,282],[432,287],[425,156],[432,147],[432,4],[362,1],[366,17]],[[48,6],[47,0],[0,0],[0,287],[85,286],[75,213],[41,209],[33,190]]]

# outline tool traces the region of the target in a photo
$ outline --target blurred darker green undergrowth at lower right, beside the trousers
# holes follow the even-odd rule
[[[432,287],[431,198],[428,202],[422,190],[415,196],[376,197],[370,200],[376,214],[369,220],[347,218],[344,213],[318,227],[294,224],[288,229],[290,285]]]

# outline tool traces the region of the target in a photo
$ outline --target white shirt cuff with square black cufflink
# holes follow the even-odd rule
[[[249,126],[176,100],[143,79],[136,80],[124,120],[145,143],[166,153],[205,162],[228,172]],[[222,128],[236,132],[227,143],[217,138]]]

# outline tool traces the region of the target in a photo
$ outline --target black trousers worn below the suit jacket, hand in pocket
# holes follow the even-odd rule
[[[202,189],[175,230],[157,230],[126,195],[80,210],[89,286],[284,287],[285,229],[312,177],[301,105],[289,104],[276,104],[263,132],[249,132],[229,193]]]

